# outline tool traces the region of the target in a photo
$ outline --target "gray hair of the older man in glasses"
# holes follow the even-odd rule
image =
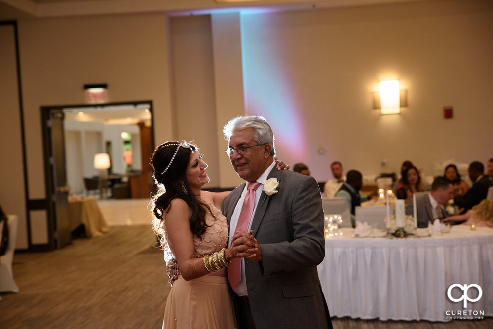
[[[248,128],[255,131],[253,140],[257,144],[269,144],[272,147],[270,155],[275,156],[274,133],[263,116],[237,116],[229,120],[223,128],[224,138],[229,141],[234,132]]]

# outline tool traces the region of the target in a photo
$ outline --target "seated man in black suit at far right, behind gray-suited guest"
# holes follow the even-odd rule
[[[469,173],[469,178],[473,182],[472,187],[463,197],[454,197],[455,205],[464,208],[464,210],[469,210],[472,206],[477,205],[482,200],[486,199],[488,188],[492,186],[493,182],[490,181],[487,176],[483,175],[484,170],[485,167],[481,162],[471,162],[467,171]]]

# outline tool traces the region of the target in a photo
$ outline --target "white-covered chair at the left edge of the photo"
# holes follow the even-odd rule
[[[12,274],[18,221],[17,215],[7,216],[9,240],[5,255],[0,257],[0,292],[19,292],[19,287],[15,284]]]

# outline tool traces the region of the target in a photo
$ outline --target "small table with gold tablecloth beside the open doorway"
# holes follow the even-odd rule
[[[73,231],[83,224],[85,234],[89,238],[100,236],[103,232],[109,231],[96,198],[69,200],[69,218],[71,230]]]

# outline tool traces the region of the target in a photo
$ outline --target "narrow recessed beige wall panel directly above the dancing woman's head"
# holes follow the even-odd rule
[[[219,186],[210,16],[173,17],[170,31],[176,138],[196,142]]]

